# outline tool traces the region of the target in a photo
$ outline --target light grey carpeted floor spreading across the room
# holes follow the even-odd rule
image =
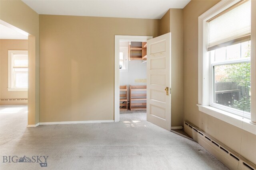
[[[26,115],[26,106],[1,107],[1,170],[228,169],[198,143],[136,116],[118,123],[26,128]],[[3,163],[3,156],[24,155],[49,156],[47,168],[32,162]]]

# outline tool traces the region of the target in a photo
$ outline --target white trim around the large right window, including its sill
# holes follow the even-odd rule
[[[256,135],[256,12],[252,10],[251,18],[251,119],[246,119],[239,115],[229,113],[222,109],[210,106],[210,83],[212,82],[210,74],[208,48],[208,24],[207,21],[220,12],[228,9],[240,0],[227,1],[222,0],[204,14],[198,17],[198,108],[208,115],[216,117],[222,121],[230,123],[236,127],[244,129]],[[256,1],[252,0],[251,8],[256,8]]]

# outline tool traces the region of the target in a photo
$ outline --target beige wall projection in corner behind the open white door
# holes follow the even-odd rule
[[[171,32],[171,113],[172,127],[183,118],[183,10],[170,9],[160,20],[160,34]]]

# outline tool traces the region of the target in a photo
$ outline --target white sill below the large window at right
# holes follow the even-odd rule
[[[251,122],[250,119],[246,119],[211,106],[201,106],[199,104],[197,106],[199,111],[202,111],[203,113],[256,135],[256,123]]]

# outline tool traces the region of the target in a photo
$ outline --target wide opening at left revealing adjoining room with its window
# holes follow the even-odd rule
[[[28,33],[0,21],[1,123],[28,125]],[[5,119],[6,118],[6,119]],[[12,126],[12,123],[9,123]]]

